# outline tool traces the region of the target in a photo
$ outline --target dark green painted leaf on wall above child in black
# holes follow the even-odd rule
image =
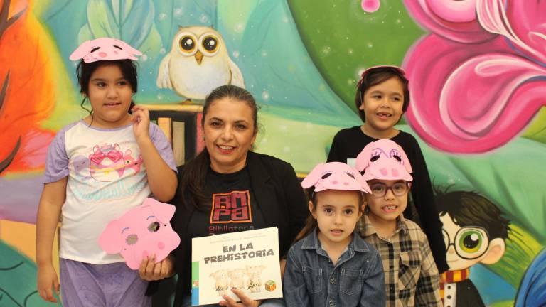
[[[381,1],[368,14],[360,1],[288,0],[309,55],[328,85],[355,111],[358,72],[373,65],[400,65],[424,34],[400,0]]]

